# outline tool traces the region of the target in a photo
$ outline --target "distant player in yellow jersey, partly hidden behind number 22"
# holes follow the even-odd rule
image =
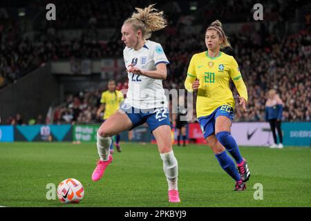
[[[110,80],[108,82],[108,90],[102,93],[102,98],[100,99],[101,106],[98,108],[97,115],[100,116],[102,111],[104,111],[104,121],[119,109],[120,103],[124,99],[122,92],[120,90],[115,90],[115,88],[115,81]],[[117,148],[117,152],[122,151],[120,146],[120,134],[118,133],[115,135],[115,147]],[[113,153],[113,142],[111,142],[110,153]]]

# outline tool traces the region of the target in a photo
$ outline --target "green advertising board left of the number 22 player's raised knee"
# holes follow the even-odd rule
[[[79,142],[97,142],[96,133],[100,125],[74,125],[73,126],[73,141]]]

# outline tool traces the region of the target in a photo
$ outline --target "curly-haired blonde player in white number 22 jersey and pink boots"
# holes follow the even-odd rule
[[[111,115],[97,131],[97,150],[100,160],[92,179],[100,180],[106,167],[111,163],[109,154],[111,136],[129,131],[147,122],[156,137],[158,151],[167,177],[169,202],[180,202],[178,194],[178,162],[171,144],[171,124],[167,97],[164,95],[162,80],[167,77],[169,61],[162,46],[148,40],[151,32],[167,26],[163,12],[153,5],[135,8],[137,12],[123,23],[122,41],[124,63],[129,78],[129,90],[124,105]]]

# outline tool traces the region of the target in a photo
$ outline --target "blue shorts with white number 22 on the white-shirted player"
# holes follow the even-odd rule
[[[164,107],[142,110],[126,104],[121,106],[120,111],[125,112],[129,119],[131,119],[133,126],[130,131],[136,126],[140,126],[146,122],[151,133],[162,125],[168,125],[171,127],[171,123],[169,122],[169,111]]]

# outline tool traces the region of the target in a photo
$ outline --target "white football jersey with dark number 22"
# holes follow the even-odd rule
[[[146,41],[140,50],[124,48],[124,63],[144,70],[156,70],[160,63],[169,64],[162,46],[154,41]],[[164,95],[162,79],[153,79],[143,75],[128,73],[129,89],[126,93],[125,104],[134,108],[149,109],[167,107],[167,97]]]

